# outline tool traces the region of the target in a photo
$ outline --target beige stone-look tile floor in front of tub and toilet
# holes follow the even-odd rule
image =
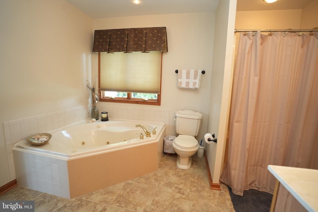
[[[21,186],[0,200],[34,200],[35,212],[235,212],[224,184],[210,189],[204,157],[193,155],[189,170],[176,157],[164,154],[158,171],[71,200]]]

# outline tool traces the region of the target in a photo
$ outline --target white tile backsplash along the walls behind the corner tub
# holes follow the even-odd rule
[[[98,102],[99,111],[108,111],[109,118],[128,119],[138,121],[161,122],[165,124],[166,132],[169,129],[169,110],[154,107],[110,106]],[[8,158],[10,180],[16,179],[12,148],[14,145],[36,133],[45,133],[69,126],[87,119],[89,106],[76,107],[64,111],[42,114],[3,122],[4,140]]]

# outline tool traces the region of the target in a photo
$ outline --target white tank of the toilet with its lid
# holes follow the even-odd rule
[[[175,112],[175,131],[179,135],[197,136],[201,127],[202,114],[191,110]]]

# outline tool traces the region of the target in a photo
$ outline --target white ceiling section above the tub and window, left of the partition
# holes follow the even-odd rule
[[[215,11],[219,0],[67,0],[92,18]]]

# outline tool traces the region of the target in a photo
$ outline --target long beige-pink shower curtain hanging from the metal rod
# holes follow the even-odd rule
[[[318,33],[240,34],[229,129],[234,194],[273,193],[269,164],[318,169]]]

